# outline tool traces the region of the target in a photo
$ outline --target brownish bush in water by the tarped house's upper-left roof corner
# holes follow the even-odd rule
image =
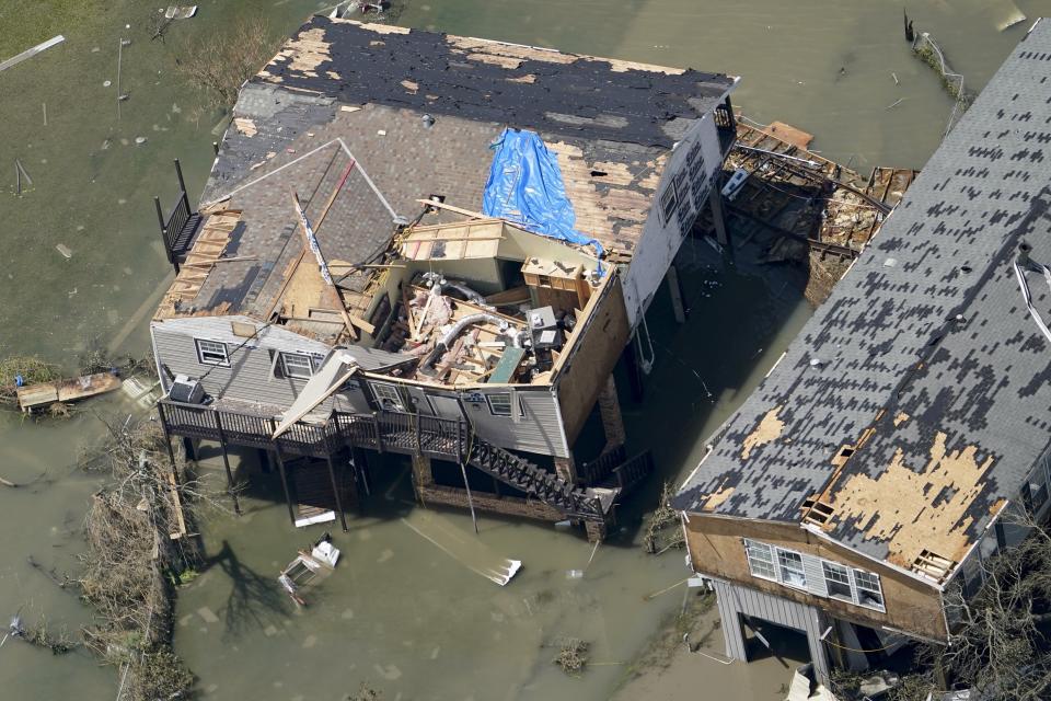
[[[206,95],[211,106],[229,108],[238,91],[277,50],[279,39],[266,20],[239,20],[221,36],[189,42],[178,70]]]

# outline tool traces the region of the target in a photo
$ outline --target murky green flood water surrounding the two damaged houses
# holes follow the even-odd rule
[[[66,36],[0,72],[0,354],[39,354],[73,370],[91,347],[147,350],[147,322],[170,275],[152,197],[172,206],[174,158],[192,198],[200,192],[221,118],[182,83],[176,59],[187,41],[218,38],[238,16],[263,13],[288,33],[323,4],[205,0],[198,16],[173,25],[163,43],[150,39],[157,7],[149,3],[47,3],[50,12],[22,0],[0,4],[0,59]],[[1051,12],[1051,1],[1017,4],[1030,18]],[[915,0],[909,9],[917,30],[931,31],[978,90],[1030,23],[1000,32],[1008,5]],[[863,171],[921,166],[951,108],[938,78],[910,55],[898,3],[413,0],[400,22],[738,74],[735,103],[749,117],[811,131],[815,149]],[[128,99],[118,115],[122,38],[131,43],[120,50]],[[15,159],[33,180],[21,196]],[[577,535],[483,515],[475,536],[469,516],[414,505],[405,467],[391,459],[377,464],[374,494],[350,518],[350,532],[334,532],[344,552],[337,571],[308,609],[296,611],[275,576],[321,529],[293,532],[276,484],[245,461],[245,515],[205,525],[209,567],[180,593],[176,651],[201,689],[217,699],[342,699],[368,680],[386,699],[609,698],[683,600],[679,587],[644,601],[688,573],[680,552],[642,552],[642,512],[660,481],[692,470],[706,436],[809,314],[797,286],[725,267],[703,243],[688,242],[680,263],[689,323],[677,326],[659,298],[649,315],[656,360],[645,401],[633,403],[620,382],[630,447],[651,449],[660,474],[625,505],[624,530],[590,565],[591,547]],[[73,595],[26,559],[76,574],[84,509],[99,485],[74,469],[77,455],[101,436],[100,417],[123,421],[132,411],[115,397],[63,422],[0,413],[0,476],[32,483],[0,487],[0,616],[44,617],[53,630],[73,634],[90,621]],[[207,476],[219,476],[207,447],[203,462]],[[432,541],[458,545],[449,554]],[[500,588],[472,570],[493,558],[524,566]],[[570,570],[585,570],[584,577],[567,577]],[[590,641],[593,664],[580,678],[551,664],[547,645],[559,636]],[[787,673],[771,662],[698,663],[701,698],[779,698]],[[0,685],[4,699],[117,694],[114,670],[86,655],[53,657],[12,640],[0,645]]]

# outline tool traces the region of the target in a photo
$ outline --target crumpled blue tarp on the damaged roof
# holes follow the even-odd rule
[[[573,203],[566,197],[558,157],[534,131],[504,129],[494,145],[489,180],[482,195],[482,212],[513,221],[527,231],[552,239],[594,246],[602,244],[577,231]]]

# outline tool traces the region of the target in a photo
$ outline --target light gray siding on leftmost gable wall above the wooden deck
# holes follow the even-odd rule
[[[233,321],[262,326],[246,317],[192,317],[154,322],[151,331],[158,363],[168,366],[175,375],[201,378],[207,374],[203,384],[211,397],[287,407],[296,400],[307,380],[274,377],[274,354],[284,350],[325,355],[328,346],[291,331],[269,326],[243,348],[233,352],[245,342],[245,338],[233,334]],[[196,338],[224,343],[230,354],[230,367],[200,363]],[[161,377],[164,377],[163,372]],[[320,409],[324,412],[330,406],[331,403]]]

